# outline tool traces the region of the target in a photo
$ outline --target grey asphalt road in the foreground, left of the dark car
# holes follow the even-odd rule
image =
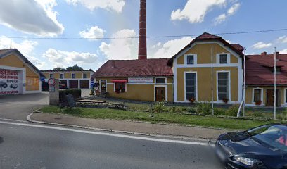
[[[1,120],[0,168],[217,169],[222,166],[212,147],[200,142],[187,144],[154,137],[122,137]]]

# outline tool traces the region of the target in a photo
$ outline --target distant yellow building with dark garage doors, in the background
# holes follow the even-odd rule
[[[49,78],[60,80],[60,88],[62,89],[90,89],[92,70],[42,70],[45,76],[45,82],[42,84],[43,90],[47,89],[47,81]]]

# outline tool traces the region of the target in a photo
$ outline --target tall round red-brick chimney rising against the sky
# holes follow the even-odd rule
[[[139,54],[138,59],[146,59],[146,0],[140,0],[139,11]]]

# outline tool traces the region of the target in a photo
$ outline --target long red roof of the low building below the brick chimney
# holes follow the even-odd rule
[[[173,76],[167,66],[167,58],[142,60],[109,60],[101,66],[93,77],[161,77]],[[113,67],[113,65],[115,65]]]

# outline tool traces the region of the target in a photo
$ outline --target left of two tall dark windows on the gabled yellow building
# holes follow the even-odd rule
[[[196,99],[196,73],[186,73],[186,100]]]

